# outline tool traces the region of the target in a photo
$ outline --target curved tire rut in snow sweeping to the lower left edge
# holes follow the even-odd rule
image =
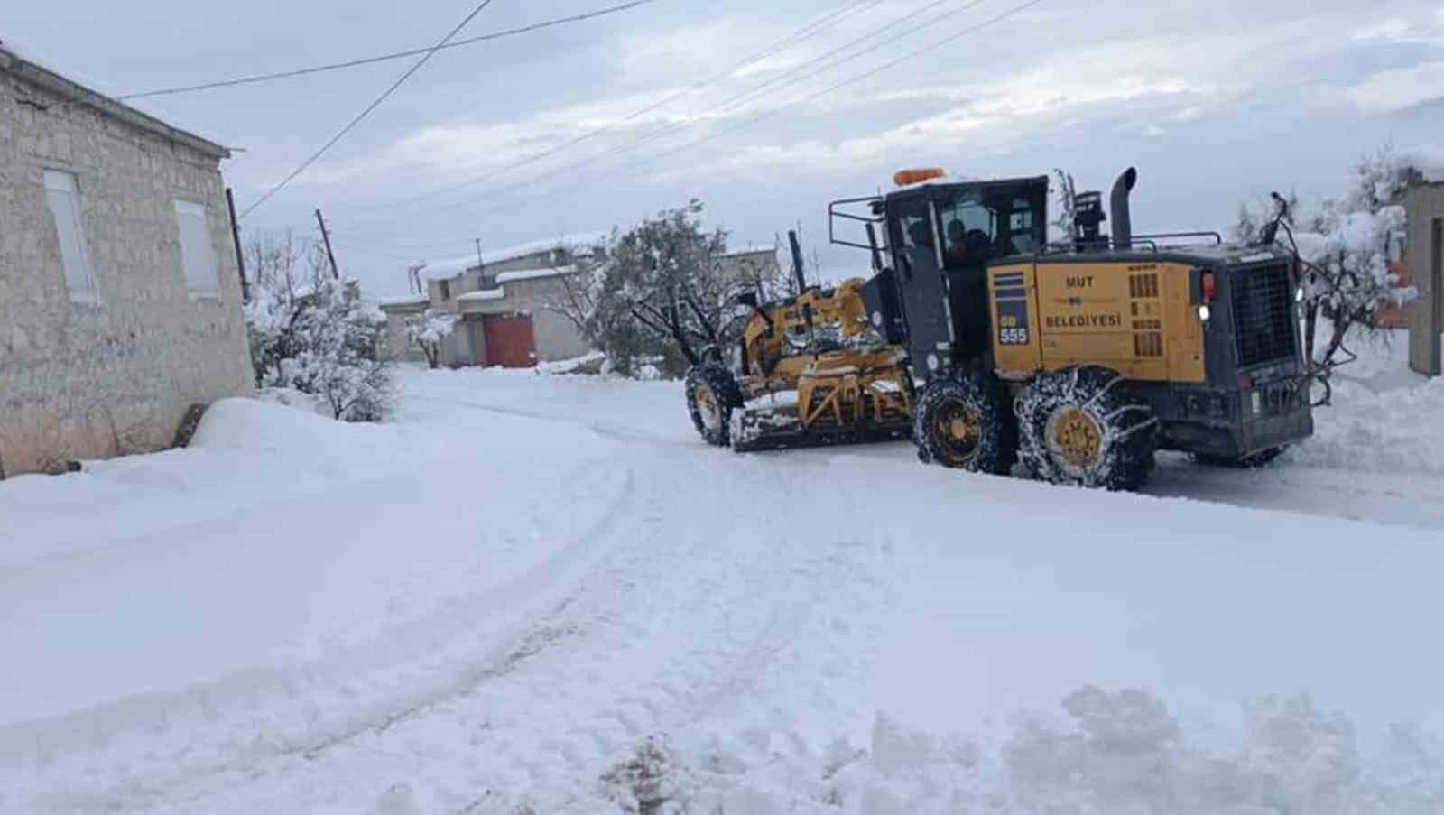
[[[540,653],[531,620],[565,610],[585,590],[586,572],[608,546],[621,542],[624,519],[645,501],[638,480],[625,468],[621,490],[601,516],[542,562],[507,584],[396,626],[383,643],[302,666],[244,670],[205,686],[0,728],[0,767],[14,779],[0,792],[0,809],[7,801],[29,798],[25,811],[32,812],[108,811],[195,779],[263,773],[277,757],[315,757],[367,733],[384,733],[490,676],[504,675]],[[645,481],[645,490],[656,488]],[[427,665],[420,676],[417,663]],[[396,675],[399,668],[403,676]],[[365,698],[368,678],[371,698]],[[341,714],[325,718],[316,708],[325,701],[342,708]],[[193,736],[168,738],[178,728]],[[105,763],[127,766],[124,788],[103,783],[84,789],[78,779]]]

